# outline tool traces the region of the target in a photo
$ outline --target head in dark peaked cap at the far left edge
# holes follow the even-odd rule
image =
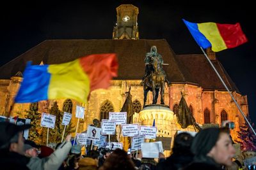
[[[24,140],[22,131],[30,125],[15,125],[9,122],[0,122],[0,150],[24,154]]]

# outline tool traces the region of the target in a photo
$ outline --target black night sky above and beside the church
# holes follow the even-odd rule
[[[53,0],[52,0],[53,1]],[[216,1],[215,1],[216,2]],[[243,1],[244,2],[244,1]],[[7,3],[7,2],[6,2]],[[116,7],[134,4],[139,8],[140,39],[166,39],[177,54],[202,53],[182,18],[190,22],[239,22],[248,43],[216,53],[218,60],[248,96],[249,112],[256,122],[255,10],[250,4],[230,3],[196,6],[181,1],[8,1],[1,5],[0,66],[38,45],[45,39],[112,39]],[[253,23],[254,22],[254,23]],[[204,73],[202,73],[204,74]]]

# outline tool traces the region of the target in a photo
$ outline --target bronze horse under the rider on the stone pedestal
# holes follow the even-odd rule
[[[145,78],[145,83],[143,85],[144,90],[144,103],[143,108],[145,107],[145,103],[147,101],[148,91],[152,91],[153,93],[153,103],[157,103],[157,98],[159,95],[159,90],[161,93],[161,104],[164,104],[164,82],[166,81],[166,74],[163,71],[163,65],[161,60],[158,57],[150,57],[149,62],[150,74]]]

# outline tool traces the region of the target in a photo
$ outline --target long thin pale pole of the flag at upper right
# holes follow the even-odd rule
[[[232,93],[230,92],[230,90],[228,90],[227,85],[225,84],[225,82],[223,81],[223,79],[221,78],[220,74],[218,73],[218,71],[216,70],[216,68],[213,66],[211,60],[209,59],[209,57],[207,56],[207,54],[205,53],[204,49],[200,46],[202,52],[204,53],[204,56],[206,57],[206,59],[209,61],[209,63],[211,64],[212,68],[214,69],[215,73],[218,75],[218,77],[220,78],[221,83],[224,85],[224,87],[227,89],[228,93],[230,94],[230,96],[232,97],[232,99],[234,100],[234,102],[236,103],[236,106],[238,108],[238,110],[240,111],[240,113],[243,115],[244,119],[246,120],[247,124],[249,125],[249,127],[252,129],[253,133],[256,135],[254,129],[252,128],[252,125],[250,124],[250,122],[248,121],[248,119],[246,118],[246,116],[244,115],[243,111],[241,110],[239,104],[237,103],[236,99],[234,98],[234,96],[232,95]]]

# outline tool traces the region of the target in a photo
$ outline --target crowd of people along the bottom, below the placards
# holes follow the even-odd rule
[[[135,156],[119,148],[88,150],[82,155],[80,145],[72,146],[71,135],[55,149],[38,146],[22,137],[29,127],[0,122],[0,169],[211,170],[239,169],[243,163],[234,160],[236,150],[227,127],[202,129],[195,137],[187,132],[177,134],[170,157],[159,153],[157,160],[143,157],[141,151]]]

